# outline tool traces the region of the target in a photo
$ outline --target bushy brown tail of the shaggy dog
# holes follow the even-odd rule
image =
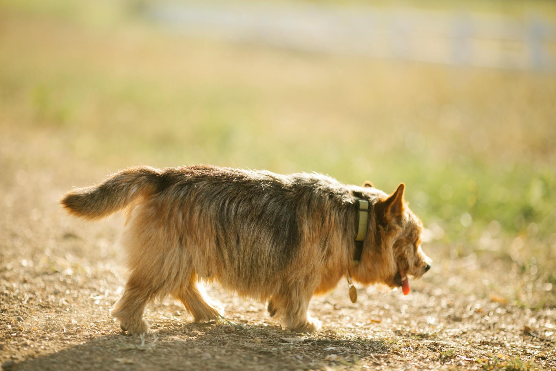
[[[155,192],[163,170],[150,166],[130,167],[101,184],[69,191],[60,203],[69,214],[96,220],[123,209],[139,196]]]

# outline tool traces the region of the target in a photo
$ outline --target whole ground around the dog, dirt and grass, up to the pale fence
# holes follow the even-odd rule
[[[556,77],[221,44],[53,4],[0,5],[5,369],[556,368]],[[122,167],[202,162],[405,181],[433,269],[357,304],[340,283],[312,303],[315,334],[215,287],[225,319],[167,301],[150,334],[123,335],[122,221],[72,220],[57,199]]]

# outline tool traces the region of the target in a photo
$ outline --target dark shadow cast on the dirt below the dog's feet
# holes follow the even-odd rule
[[[13,369],[309,369],[353,366],[365,358],[378,362],[388,356],[389,347],[383,340],[310,337],[279,328],[213,322],[161,329],[144,337],[91,335],[79,345],[24,360]]]

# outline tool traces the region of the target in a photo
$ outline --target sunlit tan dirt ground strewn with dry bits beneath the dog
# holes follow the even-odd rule
[[[182,306],[166,301],[148,308],[144,338],[122,334],[108,315],[124,282],[113,244],[121,218],[88,224],[56,203],[69,186],[107,171],[59,161],[64,154],[56,149],[26,158],[22,147],[39,142],[11,137],[1,146],[3,369],[556,368],[554,309],[505,299],[530,285],[532,295],[550,288],[510,261],[449,259],[441,245],[426,248],[434,269],[408,296],[360,289],[351,304],[341,282],[316,298],[311,310],[323,329],[314,334],[286,332],[263,303],[218,288],[210,294],[225,304],[227,321],[191,323]]]

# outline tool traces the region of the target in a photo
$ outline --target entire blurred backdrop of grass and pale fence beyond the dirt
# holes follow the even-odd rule
[[[10,184],[56,195],[139,164],[405,182],[430,255],[556,303],[552,1],[0,0],[0,125]]]

